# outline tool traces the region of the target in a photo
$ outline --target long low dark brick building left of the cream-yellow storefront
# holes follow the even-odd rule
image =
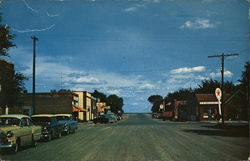
[[[21,104],[15,107],[12,113],[31,115],[32,93],[21,94],[18,97]],[[76,110],[77,109],[77,110]],[[78,95],[72,92],[36,93],[36,106],[34,114],[73,114],[81,110]]]

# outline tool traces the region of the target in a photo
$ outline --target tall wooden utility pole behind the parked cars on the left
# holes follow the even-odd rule
[[[36,109],[36,41],[38,38],[36,36],[32,36],[33,40],[33,84],[32,84],[32,109],[31,115],[35,113]]]

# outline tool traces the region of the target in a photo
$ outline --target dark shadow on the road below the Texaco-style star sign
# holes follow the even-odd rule
[[[202,129],[206,128],[206,129]],[[201,129],[185,129],[185,132],[199,135],[225,136],[225,137],[249,137],[248,125],[212,125],[201,126]]]

